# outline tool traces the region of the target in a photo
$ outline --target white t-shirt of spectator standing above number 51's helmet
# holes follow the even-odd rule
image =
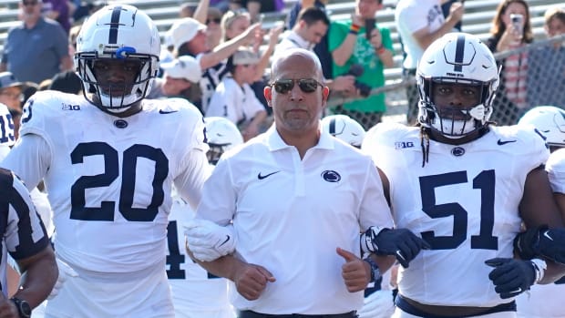
[[[426,48],[422,48],[413,36],[427,28],[428,33],[437,31],[445,23],[440,0],[400,0],[395,9],[395,23],[398,35],[402,38],[406,60],[403,67],[416,69]]]

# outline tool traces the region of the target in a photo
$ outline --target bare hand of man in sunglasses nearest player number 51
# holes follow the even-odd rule
[[[368,264],[357,257],[351,251],[337,248],[337,254],[344,258],[345,263],[342,265],[342,277],[348,292],[360,292],[365,290],[367,284],[371,281],[371,269]]]

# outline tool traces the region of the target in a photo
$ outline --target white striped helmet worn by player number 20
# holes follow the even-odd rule
[[[160,38],[157,26],[149,15],[132,5],[107,5],[87,18],[77,36],[75,66],[82,79],[84,94],[98,95],[102,107],[123,112],[149,94],[154,77],[159,73]],[[121,97],[104,93],[94,73],[100,59],[136,60],[139,73],[132,86],[112,88],[123,91]]]

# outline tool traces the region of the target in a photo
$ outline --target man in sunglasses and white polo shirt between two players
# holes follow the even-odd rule
[[[235,253],[193,257],[234,282],[240,318],[354,318],[367,283],[394,262],[383,254],[410,260],[425,245],[409,231],[385,230],[393,223],[372,160],[321,129],[322,78],[311,51],[275,59],[264,88],[274,125],[225,153],[204,184],[197,218],[229,225]],[[383,229],[381,256],[364,261],[359,233],[374,226]],[[189,250],[201,243],[187,234]]]

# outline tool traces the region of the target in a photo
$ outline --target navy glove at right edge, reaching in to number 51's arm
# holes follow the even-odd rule
[[[565,229],[549,229],[547,226],[529,229],[516,236],[514,248],[524,260],[542,256],[565,264]]]

